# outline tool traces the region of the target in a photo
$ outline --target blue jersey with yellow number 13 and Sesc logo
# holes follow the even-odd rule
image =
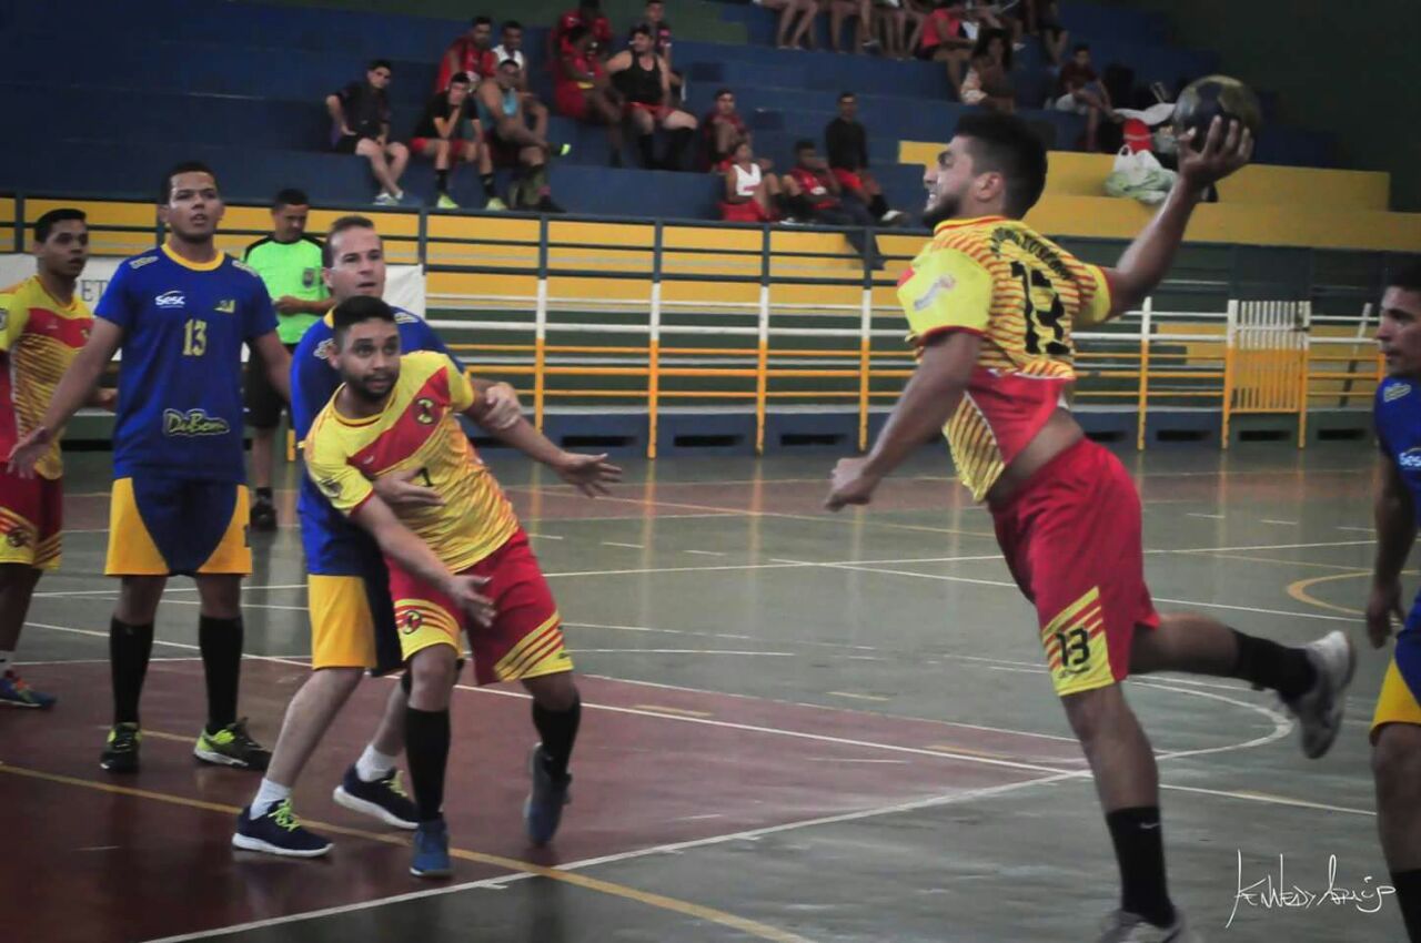
[[[125,260],[94,314],[124,331],[114,477],[246,481],[242,345],[276,331],[261,278],[162,246]]]

